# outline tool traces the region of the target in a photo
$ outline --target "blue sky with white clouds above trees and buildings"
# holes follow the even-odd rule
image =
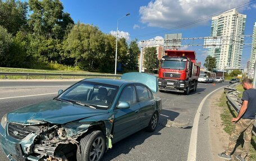
[[[64,11],[70,13],[72,19],[85,24],[98,26],[104,33],[116,31],[117,20],[130,13],[119,21],[118,29],[127,40],[148,40],[164,34],[182,33],[182,38],[210,36],[211,19],[186,26],[176,30],[167,30],[188,22],[203,19],[220,13],[241,4],[253,3],[239,8],[239,12],[247,15],[245,35],[252,35],[256,21],[255,0],[62,0]],[[255,2],[255,3],[254,3]],[[159,34],[153,34],[161,31]],[[149,36],[141,36],[149,34]],[[251,40],[249,40],[250,43]],[[203,42],[202,42],[203,43]],[[204,62],[207,50],[203,47],[189,47],[196,50],[198,61]],[[250,58],[250,47],[243,50],[242,66]]]

